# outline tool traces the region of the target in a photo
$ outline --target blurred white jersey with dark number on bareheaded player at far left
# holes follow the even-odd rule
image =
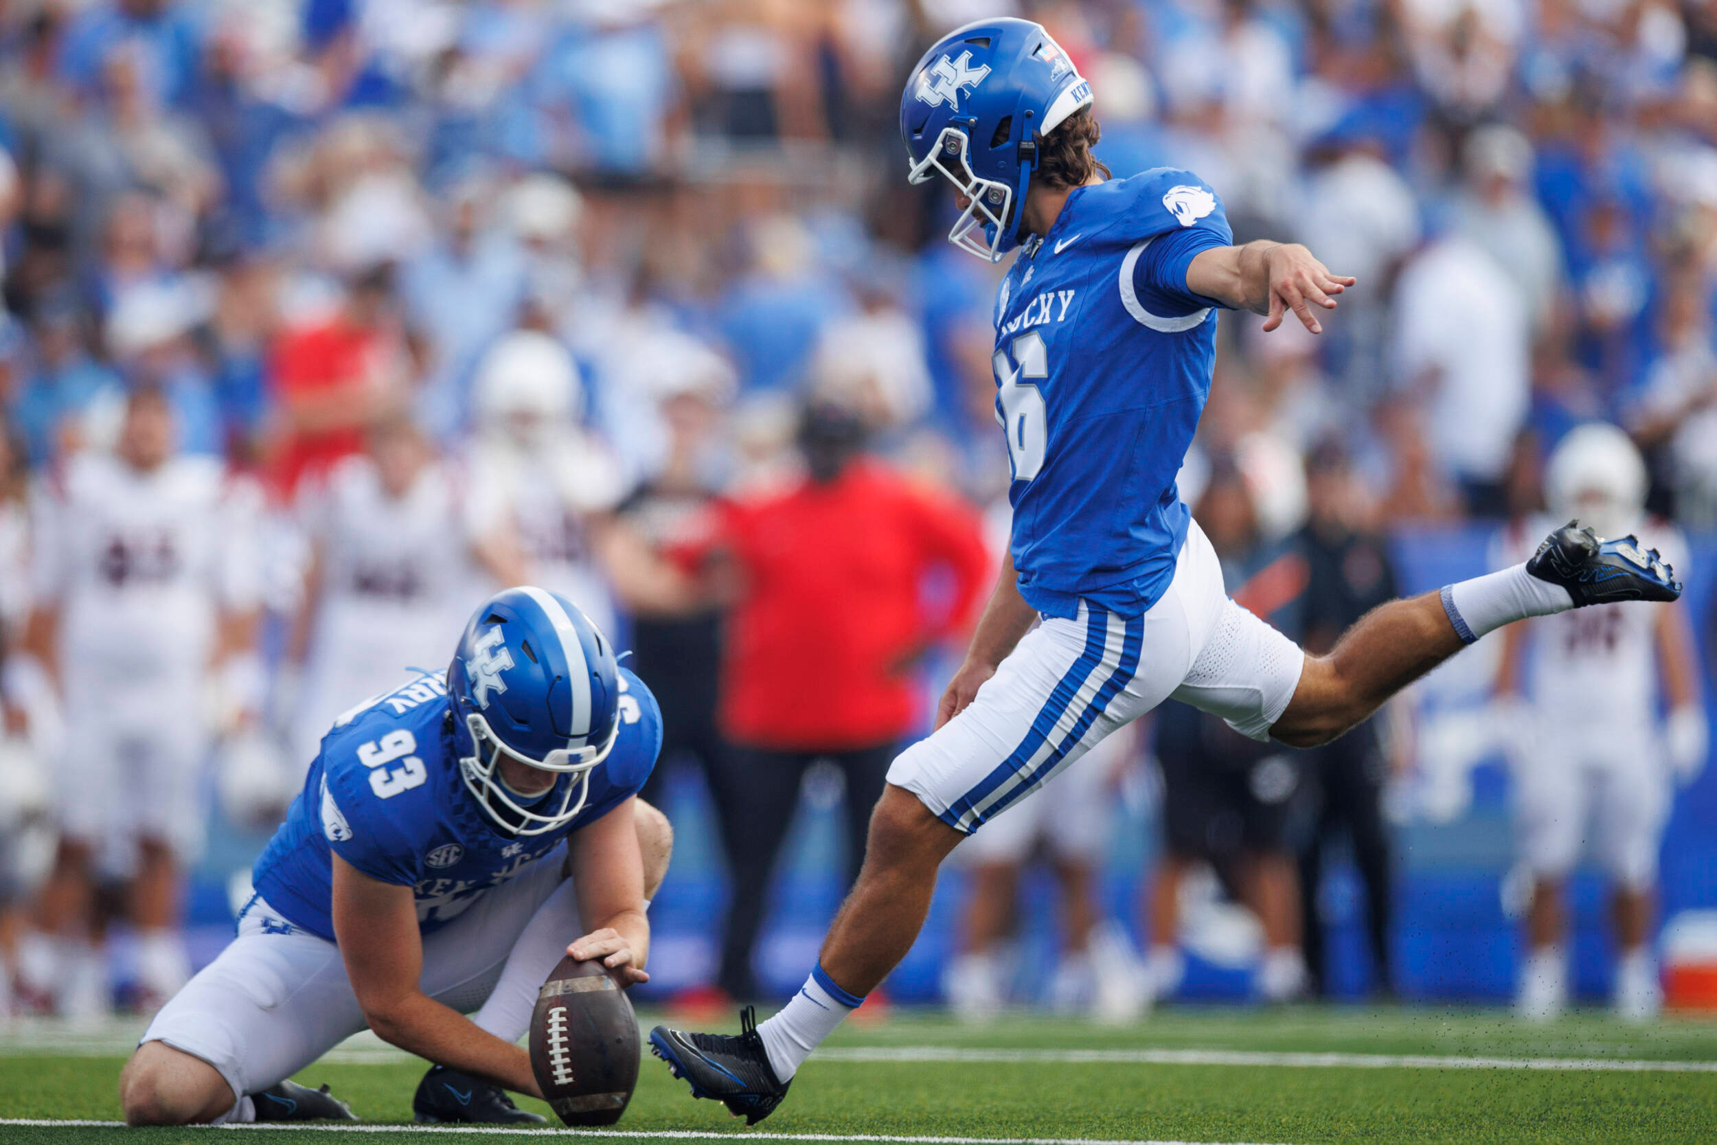
[[[62,615],[69,690],[122,702],[206,671],[221,606],[258,599],[254,484],[208,457],[151,472],[79,453],[38,491],[34,597]]]

